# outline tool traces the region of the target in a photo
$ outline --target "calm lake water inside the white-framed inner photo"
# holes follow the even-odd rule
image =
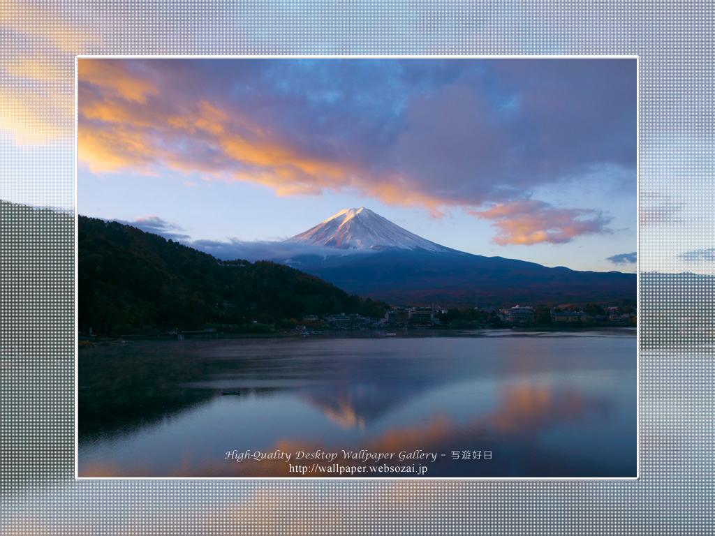
[[[94,347],[78,475],[636,477],[636,386],[635,329]]]

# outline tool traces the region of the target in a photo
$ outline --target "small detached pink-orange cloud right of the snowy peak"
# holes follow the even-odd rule
[[[559,209],[536,199],[495,204],[472,214],[493,222],[494,242],[506,244],[565,244],[584,234],[609,232],[610,218],[592,209]]]

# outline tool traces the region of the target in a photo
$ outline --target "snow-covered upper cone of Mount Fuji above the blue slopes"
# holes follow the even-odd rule
[[[336,249],[424,249],[454,252],[393,224],[370,209],[345,209],[286,242],[302,242]]]

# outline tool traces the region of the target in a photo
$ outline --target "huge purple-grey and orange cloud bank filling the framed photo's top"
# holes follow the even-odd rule
[[[635,181],[632,60],[82,59],[78,91],[93,172],[200,172],[435,215],[595,169]]]

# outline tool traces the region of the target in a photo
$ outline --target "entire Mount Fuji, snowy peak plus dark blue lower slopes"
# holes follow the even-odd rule
[[[285,242],[306,244],[310,254],[271,260],[351,294],[393,305],[475,307],[636,299],[636,274],[577,272],[460,252],[364,207],[338,212]]]

